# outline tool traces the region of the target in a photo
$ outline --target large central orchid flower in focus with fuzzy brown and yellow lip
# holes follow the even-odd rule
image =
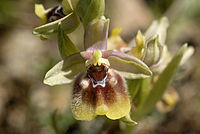
[[[72,112],[77,120],[97,115],[120,119],[131,106],[125,78],[149,77],[152,72],[138,58],[107,50],[109,19],[90,22],[84,35],[84,51],[68,55],[44,79],[48,85],[73,83]]]

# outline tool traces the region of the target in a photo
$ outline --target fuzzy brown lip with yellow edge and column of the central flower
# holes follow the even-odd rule
[[[92,120],[96,115],[122,118],[130,112],[124,78],[109,68],[109,61],[96,49],[86,61],[87,71],[74,82],[72,112],[77,120]]]

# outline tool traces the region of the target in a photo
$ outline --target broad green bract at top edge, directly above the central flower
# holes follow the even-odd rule
[[[93,19],[103,16],[104,10],[104,0],[79,0],[77,4],[77,13],[85,28]]]

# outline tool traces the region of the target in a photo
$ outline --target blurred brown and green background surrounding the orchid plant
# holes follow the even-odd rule
[[[43,84],[45,73],[61,57],[56,39],[41,41],[32,35],[40,19],[34,4],[46,8],[58,0],[0,0],[0,134],[106,134],[125,133],[124,124],[97,117],[91,122],[74,120],[71,87]],[[172,54],[185,42],[195,48],[172,83],[180,99],[176,107],[154,110],[136,128],[137,134],[200,133],[200,1],[199,0],[106,0],[111,28],[120,26],[130,41],[154,19],[170,21],[167,44]],[[83,29],[70,35],[80,49]]]

